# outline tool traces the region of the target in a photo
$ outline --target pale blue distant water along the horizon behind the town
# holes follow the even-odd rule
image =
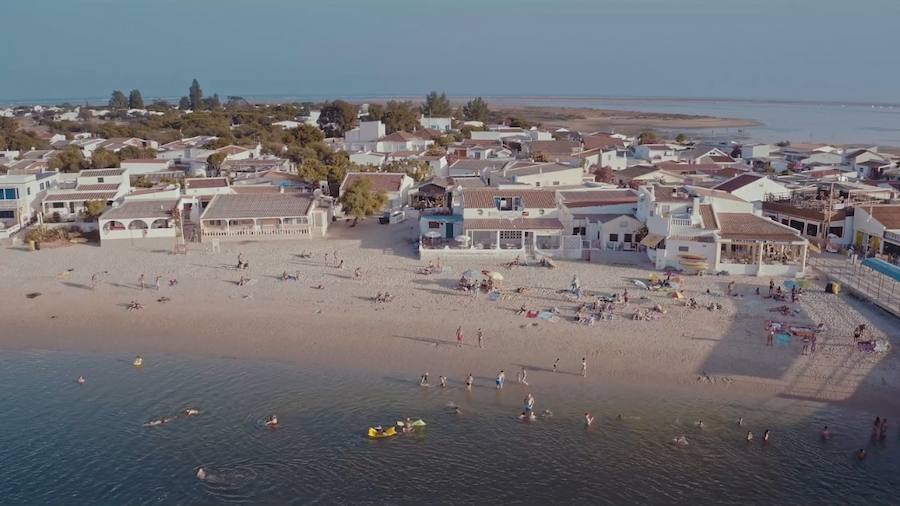
[[[245,95],[260,102],[321,101],[322,95]],[[349,96],[347,100],[376,100],[391,96]],[[397,98],[408,98],[400,96]],[[712,140],[739,139],[747,142],[824,142],[837,144],[873,144],[900,147],[900,104],[866,102],[804,102],[742,99],[619,98],[485,96],[493,104],[555,107],[587,107],[623,111],[690,114],[722,118],[748,119],[759,126],[725,129],[692,129],[695,136]],[[105,103],[93,98],[90,103]],[[169,97],[177,101],[177,97]],[[85,99],[41,99],[29,103],[84,103]],[[22,102],[18,102],[22,103]],[[13,105],[13,104],[10,104]]]

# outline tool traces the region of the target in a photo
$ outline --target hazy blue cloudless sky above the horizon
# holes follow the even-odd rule
[[[900,102],[900,0],[2,0],[0,101],[186,94]]]

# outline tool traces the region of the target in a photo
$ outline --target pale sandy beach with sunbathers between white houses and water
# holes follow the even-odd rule
[[[390,227],[390,228],[389,228]],[[873,403],[895,398],[900,388],[895,354],[861,353],[853,328],[869,326],[870,336],[897,337],[897,322],[847,296],[810,289],[795,306],[798,314],[769,312],[780,305],[755,294],[768,292],[768,279],[685,278],[686,297],[719,311],[689,309],[666,294],[642,290],[634,279],[651,269],[643,255],[610,264],[560,262],[505,270],[497,260],[444,261],[443,272],[417,274],[423,265],[410,239],[413,222],[356,228],[336,224],[327,240],[222,243],[219,253],[192,245],[186,256],[167,249],[131,245],[99,248],[75,245],[28,252],[0,250],[5,349],[187,353],[212,357],[278,360],[367,369],[409,377],[423,371],[446,375],[459,384],[469,372],[491,381],[501,369],[514,379],[522,366],[530,381],[627,383],[653,388],[684,388],[710,396],[767,399],[781,397],[827,403]],[[301,252],[312,258],[301,258]],[[334,252],[344,268],[334,266]],[[238,253],[250,264],[251,281],[238,286]],[[325,254],[329,255],[328,264]],[[636,265],[627,265],[632,262]],[[361,268],[362,278],[353,271]],[[490,301],[455,289],[466,269],[503,273],[504,297]],[[282,281],[287,271],[300,281]],[[91,289],[91,274],[99,283]],[[139,289],[145,274],[148,288]],[[159,291],[149,288],[162,276]],[[612,321],[577,324],[579,303],[560,293],[578,275],[588,293],[629,290],[630,302]],[[175,287],[169,279],[177,279]],[[741,296],[724,295],[735,281]],[[781,280],[776,280],[780,282]],[[324,285],[324,289],[314,286]],[[526,287],[527,293],[515,293]],[[707,294],[707,289],[710,294]],[[376,304],[378,292],[392,302]],[[26,295],[39,293],[29,298]],[[166,297],[169,300],[160,302]],[[129,311],[136,301],[144,307]],[[638,308],[661,305],[654,321],[632,321]],[[560,321],[516,314],[525,305],[557,307]],[[823,323],[814,354],[801,355],[801,343],[765,346],[765,322]],[[455,330],[463,327],[462,349]],[[485,349],[476,344],[482,328]],[[582,357],[587,378],[578,377]],[[550,372],[556,358],[560,371]]]

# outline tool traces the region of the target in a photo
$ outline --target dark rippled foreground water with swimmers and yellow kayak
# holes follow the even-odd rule
[[[529,424],[516,419],[525,390],[498,394],[486,378],[466,393],[458,382],[422,389],[416,378],[144,358],[136,370],[120,355],[0,353],[0,503],[897,503],[896,425],[871,442],[870,413],[533,386],[537,409],[554,417]],[[74,383],[79,374],[85,385]],[[533,385],[540,378],[530,375]],[[142,426],[188,406],[202,413]],[[598,418],[590,430],[587,409]],[[278,430],[264,427],[271,413]],[[365,437],[369,425],[407,415],[428,427]],[[825,424],[835,432],[827,443]],[[746,444],[747,428],[757,437],[771,428],[772,441]],[[675,448],[682,434],[690,445]],[[861,446],[863,462],[853,456]],[[195,477],[198,466],[208,480]]]

